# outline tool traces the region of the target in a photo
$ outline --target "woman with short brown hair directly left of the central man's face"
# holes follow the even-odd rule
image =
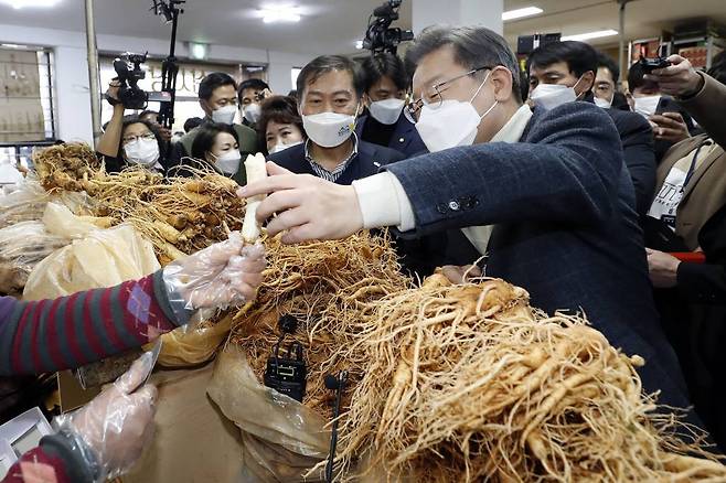
[[[307,139],[297,101],[287,96],[273,96],[263,101],[257,129],[265,154],[275,154]]]

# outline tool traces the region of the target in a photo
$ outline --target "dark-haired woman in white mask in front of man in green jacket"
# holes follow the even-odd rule
[[[237,132],[229,125],[207,122],[199,128],[192,144],[192,158],[201,165],[212,167],[225,176],[244,184],[244,169]]]

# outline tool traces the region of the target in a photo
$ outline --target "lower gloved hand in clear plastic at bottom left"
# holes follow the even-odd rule
[[[87,406],[55,420],[60,431],[83,441],[97,482],[128,471],[153,438],[157,388],[139,388],[153,362],[152,353],[145,353]]]

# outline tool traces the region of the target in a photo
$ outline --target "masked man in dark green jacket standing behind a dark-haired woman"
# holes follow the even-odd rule
[[[199,86],[199,103],[205,114],[203,124],[184,135],[172,148],[170,170],[177,175],[189,175],[183,167],[194,163],[184,159],[191,159],[192,146],[200,128],[210,122],[231,125],[234,128],[237,132],[242,160],[257,151],[257,132],[247,126],[234,122],[237,115],[237,83],[232,76],[222,72],[206,75]],[[245,184],[244,170],[237,174],[237,182]]]

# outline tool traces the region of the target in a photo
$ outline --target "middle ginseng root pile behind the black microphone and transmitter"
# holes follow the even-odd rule
[[[278,236],[264,243],[268,268],[254,303],[235,315],[231,342],[246,351],[261,382],[281,334],[280,316],[295,316],[298,329],[286,336],[281,348],[292,341],[302,344],[308,371],[302,402],[330,418],[334,393],[325,388],[325,375],[345,369],[350,384],[354,384],[369,364],[352,354],[346,358],[337,356],[354,342],[353,318],[369,316],[361,311],[363,303],[405,290],[412,282],[401,273],[385,234],[360,232],[342,240],[303,245],[284,245]]]

